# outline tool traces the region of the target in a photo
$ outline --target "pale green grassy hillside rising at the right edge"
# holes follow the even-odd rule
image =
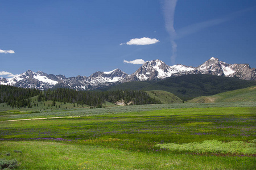
[[[256,86],[223,92],[213,96],[201,96],[190,100],[190,103],[220,103],[237,101],[256,101]]]

